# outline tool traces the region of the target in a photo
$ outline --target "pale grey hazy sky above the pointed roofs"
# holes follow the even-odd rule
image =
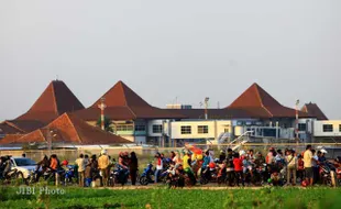
[[[0,0],[0,121],[53,79],[86,106],[123,80],[148,103],[229,106],[253,82],[341,119],[340,0]]]

